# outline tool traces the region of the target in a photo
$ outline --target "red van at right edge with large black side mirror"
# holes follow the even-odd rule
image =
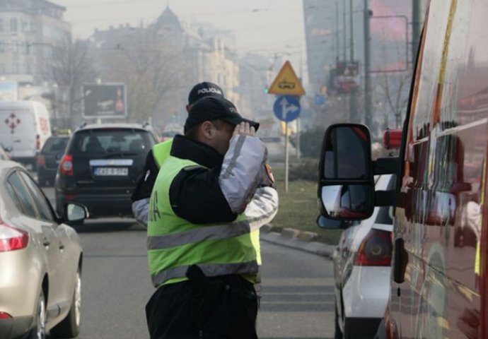
[[[395,202],[378,338],[488,338],[487,17],[485,0],[429,2],[399,157],[373,162],[366,126],[325,133],[320,225]],[[375,192],[373,175],[388,173],[395,191]]]

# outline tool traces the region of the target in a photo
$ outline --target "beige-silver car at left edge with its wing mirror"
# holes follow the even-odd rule
[[[59,218],[16,162],[0,160],[0,338],[74,338],[81,314],[83,252],[76,231],[86,208]]]

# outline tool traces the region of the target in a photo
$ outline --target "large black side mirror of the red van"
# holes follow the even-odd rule
[[[332,220],[364,220],[374,210],[371,136],[360,124],[325,131],[319,165],[320,212]]]

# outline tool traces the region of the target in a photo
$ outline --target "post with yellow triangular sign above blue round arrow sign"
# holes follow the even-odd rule
[[[279,95],[274,102],[273,111],[276,117],[285,122],[285,193],[288,193],[288,169],[289,169],[289,133],[288,123],[300,115],[300,95],[305,94],[300,79],[296,76],[290,61],[285,61],[271,86],[268,94]]]

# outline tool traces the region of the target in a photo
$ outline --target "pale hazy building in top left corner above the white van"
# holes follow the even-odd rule
[[[50,81],[52,50],[71,36],[66,8],[47,0],[0,1],[0,76],[22,84]]]

